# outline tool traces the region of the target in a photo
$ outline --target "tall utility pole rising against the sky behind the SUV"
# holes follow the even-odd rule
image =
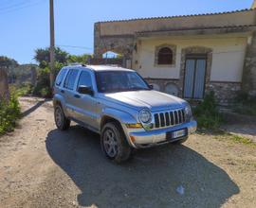
[[[49,0],[49,20],[50,20],[50,88],[53,87],[54,82],[54,6],[53,0]]]

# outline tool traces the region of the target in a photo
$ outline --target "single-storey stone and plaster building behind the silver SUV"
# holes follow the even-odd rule
[[[256,4],[251,9],[99,22],[94,53],[121,54],[156,90],[221,104],[256,95]]]

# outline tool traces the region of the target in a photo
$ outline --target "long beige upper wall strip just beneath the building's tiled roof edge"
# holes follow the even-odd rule
[[[102,22],[101,36],[134,35],[139,31],[203,28],[214,26],[249,26],[255,23],[255,9],[212,15],[177,16],[127,21]]]

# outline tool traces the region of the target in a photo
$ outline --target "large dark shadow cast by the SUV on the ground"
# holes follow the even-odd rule
[[[142,149],[130,162],[115,165],[101,154],[97,134],[74,126],[51,130],[46,149],[81,189],[82,206],[220,207],[239,193],[222,168],[185,146]],[[179,185],[184,195],[176,192]]]

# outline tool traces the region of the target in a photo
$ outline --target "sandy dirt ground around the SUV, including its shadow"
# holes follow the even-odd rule
[[[21,103],[20,126],[0,137],[1,208],[256,207],[255,147],[194,134],[115,165],[97,134],[56,130],[50,101]]]

